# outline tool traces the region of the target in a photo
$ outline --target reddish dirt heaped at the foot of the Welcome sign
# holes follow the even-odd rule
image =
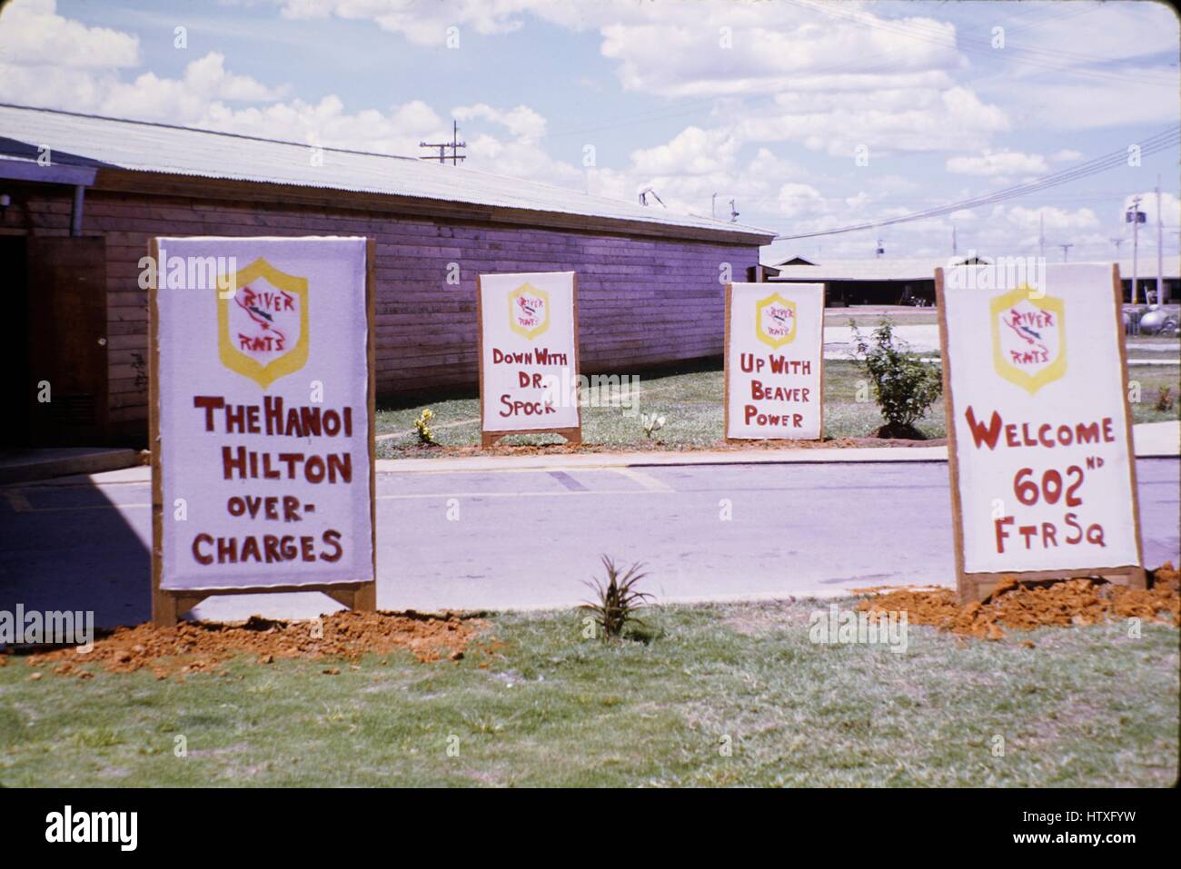
[[[1046,625],[1070,627],[1109,619],[1138,618],[1181,625],[1181,595],[1173,562],[1149,574],[1147,589],[1098,579],[1045,584],[1003,581],[983,601],[960,606],[947,588],[882,592],[857,603],[868,612],[906,610],[913,625],[934,625],[964,636],[999,640],[1004,628],[1031,630]]]

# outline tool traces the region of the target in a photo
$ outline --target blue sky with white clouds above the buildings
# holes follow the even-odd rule
[[[180,32],[177,28],[184,28]],[[782,235],[1068,170],[1181,125],[1179,24],[1154,2],[14,0],[0,102],[418,155],[457,119],[469,165]],[[0,131],[2,132],[2,131]],[[768,254],[1110,259],[1141,165]],[[658,205],[655,205],[658,207]],[[1155,256],[1155,227],[1142,251]],[[1122,246],[1130,254],[1130,241]]]

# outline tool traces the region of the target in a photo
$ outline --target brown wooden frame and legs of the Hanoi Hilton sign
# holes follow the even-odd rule
[[[338,603],[364,613],[377,612],[377,463],[373,457],[377,433],[374,419],[377,405],[377,368],[374,366],[373,313],[376,308],[374,256],[377,244],[373,239],[366,239],[365,246],[365,314],[368,328],[366,339],[368,355],[368,453],[370,453],[370,550],[372,553],[371,576],[363,582],[307,584],[307,586],[270,586],[265,588],[208,588],[208,589],[169,589],[161,588],[163,575],[163,532],[164,532],[164,476],[159,449],[159,308],[156,294],[158,285],[152,279],[148,288],[148,426],[149,446],[151,449],[151,620],[156,627],[174,627],[189,610],[208,597],[235,594],[282,594],[293,592],[324,592]],[[159,262],[159,248],[156,240],[148,243],[148,255],[152,262]],[[156,275],[159,269],[156,269]]]

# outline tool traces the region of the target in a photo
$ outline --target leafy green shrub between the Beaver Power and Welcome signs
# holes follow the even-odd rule
[[[939,366],[908,357],[906,341],[894,339],[894,327],[882,320],[872,337],[862,335],[852,320],[856,357],[874,384],[874,399],[886,425],[877,437],[922,440],[914,423],[926,414],[942,392]]]

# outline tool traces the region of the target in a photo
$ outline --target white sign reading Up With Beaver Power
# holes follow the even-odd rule
[[[818,439],[823,285],[731,283],[726,318],[726,437]]]

